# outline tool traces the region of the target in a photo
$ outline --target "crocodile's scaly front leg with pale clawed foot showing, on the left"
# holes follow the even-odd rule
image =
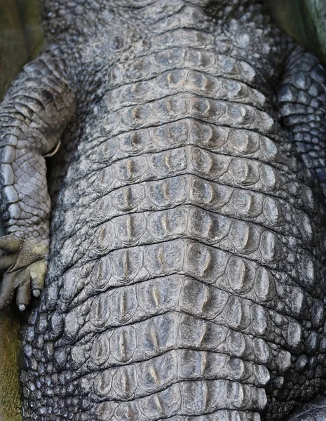
[[[40,295],[49,248],[50,198],[44,156],[58,145],[74,114],[74,94],[53,51],[25,66],[0,107],[0,269],[6,270],[0,310],[17,290],[24,310]]]

